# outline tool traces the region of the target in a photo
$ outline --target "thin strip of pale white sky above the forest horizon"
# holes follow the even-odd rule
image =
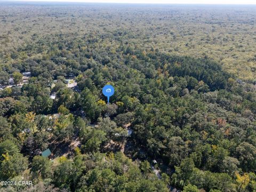
[[[0,0],[1,1],[1,0]],[[256,0],[15,0],[45,2],[150,3],[150,4],[256,4]]]

